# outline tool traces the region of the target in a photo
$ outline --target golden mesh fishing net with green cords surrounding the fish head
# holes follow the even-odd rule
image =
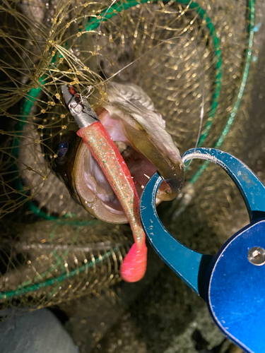
[[[1,1],[3,308],[108,292],[131,245],[129,227],[93,219],[52,173],[54,137],[73,124],[62,84],[76,85],[100,107],[109,83],[135,83],[181,153],[196,142],[223,148],[254,170],[259,165],[264,177],[248,135],[261,11],[253,0]],[[255,124],[261,136],[260,120]],[[247,222],[244,203],[207,162],[193,161],[185,178],[161,217],[185,244],[214,253]]]

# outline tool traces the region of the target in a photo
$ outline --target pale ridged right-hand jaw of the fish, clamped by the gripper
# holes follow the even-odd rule
[[[184,184],[182,157],[151,98],[137,85],[112,82],[107,99],[105,109],[121,116],[131,147],[145,155],[172,191],[179,193]]]

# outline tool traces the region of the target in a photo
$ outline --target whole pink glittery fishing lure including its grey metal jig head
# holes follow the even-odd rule
[[[78,94],[72,86],[63,85],[61,92],[64,102],[78,127],[78,136],[88,145],[93,157],[100,165],[114,193],[124,209],[131,226],[135,243],[127,253],[120,273],[127,282],[136,282],[146,273],[147,247],[146,235],[141,225],[139,196],[126,163],[114,144],[110,134],[100,123],[85,97]]]

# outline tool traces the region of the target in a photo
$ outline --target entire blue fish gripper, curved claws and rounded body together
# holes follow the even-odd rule
[[[265,186],[247,165],[220,150],[187,151],[183,162],[209,160],[235,181],[247,205],[251,223],[234,234],[216,256],[204,255],[181,244],[158,218],[155,197],[163,179],[155,173],[141,197],[141,220],[158,255],[194,291],[204,297],[220,330],[248,353],[264,353],[265,261],[249,261],[249,251],[265,249]]]

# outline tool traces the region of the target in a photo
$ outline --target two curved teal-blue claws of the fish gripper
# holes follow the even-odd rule
[[[213,148],[188,150],[183,162],[191,159],[209,160],[222,167],[240,189],[247,205],[251,221],[265,215],[265,187],[247,165],[226,152]],[[213,256],[198,253],[177,241],[163,226],[155,207],[155,197],[163,181],[158,173],[148,181],[141,196],[140,212],[143,228],[151,245],[160,258],[179,275],[201,297],[204,294],[204,280]]]

